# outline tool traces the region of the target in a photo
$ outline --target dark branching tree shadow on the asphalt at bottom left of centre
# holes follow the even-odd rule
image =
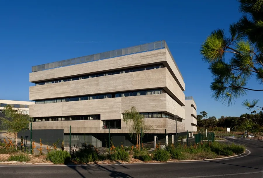
[[[125,169],[129,169],[128,167],[124,166],[122,163],[118,162],[118,165],[120,165],[121,167],[125,168]],[[106,171],[109,172],[109,176],[110,177],[114,177],[114,178],[134,178],[132,176],[130,176],[129,174],[125,174],[123,172],[120,171],[116,171],[116,168],[114,167],[116,165],[107,165],[107,166],[103,166],[103,165],[99,165],[97,163],[94,163],[94,165],[68,165],[68,167],[70,167],[71,169],[73,169],[74,171],[76,171],[82,178],[86,178],[86,177],[90,177],[86,176],[83,173],[83,171],[81,171],[78,168],[81,168],[82,170],[85,170],[88,174],[92,175],[92,172],[97,172],[97,171]],[[108,168],[107,168],[108,167]]]

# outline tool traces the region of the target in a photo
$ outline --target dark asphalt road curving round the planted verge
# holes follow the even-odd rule
[[[119,164],[86,166],[0,166],[0,178],[257,178],[263,177],[263,142],[228,138],[245,144],[246,154],[225,160],[158,164]]]

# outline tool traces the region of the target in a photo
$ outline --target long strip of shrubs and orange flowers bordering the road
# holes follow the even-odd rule
[[[30,155],[25,149],[15,147],[9,139],[8,142],[0,146],[1,161],[19,161],[32,162],[39,159],[40,162],[53,162],[54,164],[88,164],[90,162],[167,162],[169,160],[199,160],[222,158],[244,153],[245,147],[235,144],[204,142],[186,146],[178,144],[177,146],[169,143],[169,146],[162,147],[156,145],[156,149],[142,148],[139,145],[124,147],[123,145],[115,147],[111,141],[111,147],[100,152],[95,146],[83,143],[80,148],[72,148],[71,155],[64,147],[57,148],[54,144],[48,151],[43,153],[39,148],[39,154]],[[2,156],[2,157],[1,157]]]

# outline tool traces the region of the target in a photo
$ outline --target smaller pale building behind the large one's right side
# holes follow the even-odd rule
[[[196,132],[196,104],[192,96],[185,97],[185,119],[183,123],[185,124],[185,130],[188,132]]]

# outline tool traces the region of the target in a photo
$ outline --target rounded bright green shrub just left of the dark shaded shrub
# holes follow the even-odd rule
[[[52,150],[46,155],[46,159],[54,164],[66,164],[70,161],[70,153],[63,150]]]

